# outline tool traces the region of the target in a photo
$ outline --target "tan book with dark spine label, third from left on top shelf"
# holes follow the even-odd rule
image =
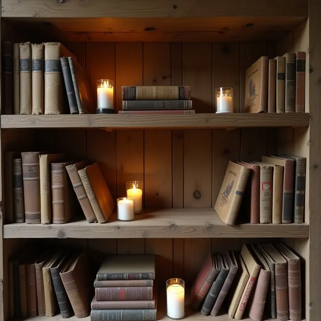
[[[20,115],[30,115],[32,110],[31,43],[20,47]]]

